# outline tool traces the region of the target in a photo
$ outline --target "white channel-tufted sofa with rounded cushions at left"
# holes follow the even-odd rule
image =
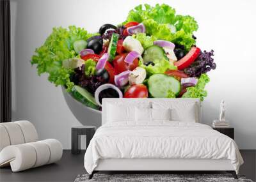
[[[13,172],[24,171],[60,160],[62,151],[56,139],[38,140],[29,121],[0,123],[0,167],[10,165]]]

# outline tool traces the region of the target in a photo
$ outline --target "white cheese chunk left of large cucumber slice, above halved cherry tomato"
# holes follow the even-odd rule
[[[144,68],[137,67],[129,74],[129,84],[142,84],[146,79],[147,73]]]

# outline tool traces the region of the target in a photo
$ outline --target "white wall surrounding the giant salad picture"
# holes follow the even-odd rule
[[[97,31],[118,24],[138,1],[12,0],[13,120],[32,121],[42,139],[56,138],[70,148],[70,127],[79,125],[60,87],[38,77],[29,60],[54,26],[76,25]],[[217,69],[209,73],[204,123],[217,119],[222,98],[241,149],[256,149],[255,1],[140,1],[167,3],[198,21],[197,45],[215,50]]]

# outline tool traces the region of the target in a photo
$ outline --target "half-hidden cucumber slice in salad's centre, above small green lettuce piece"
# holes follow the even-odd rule
[[[157,45],[152,45],[150,47],[148,47],[144,54],[143,54],[143,61],[144,63],[147,62],[153,62],[158,59],[158,60],[162,60],[162,59],[167,59],[168,57],[166,56],[164,49],[162,47],[159,47]]]

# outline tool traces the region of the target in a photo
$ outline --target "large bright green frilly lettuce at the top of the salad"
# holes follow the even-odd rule
[[[196,43],[192,38],[193,32],[198,29],[195,19],[189,15],[175,15],[175,9],[166,4],[136,6],[129,11],[124,24],[132,21],[143,22],[147,34],[155,36],[158,40],[179,43],[184,45],[186,50]],[[172,33],[171,26],[175,27],[175,33]]]

